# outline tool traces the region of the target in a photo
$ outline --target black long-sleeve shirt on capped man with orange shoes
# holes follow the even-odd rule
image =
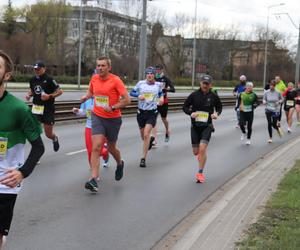
[[[212,124],[211,114],[215,111],[218,115],[222,113],[222,103],[218,95],[209,90],[208,93],[203,93],[200,89],[191,93],[183,104],[183,111],[187,115],[193,112],[204,111],[209,113],[207,124]],[[196,125],[194,118],[191,118],[193,125]]]

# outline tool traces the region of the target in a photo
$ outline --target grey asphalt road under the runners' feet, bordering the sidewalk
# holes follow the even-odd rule
[[[207,182],[195,183],[197,161],[191,152],[189,118],[169,116],[171,139],[149,153],[147,168],[139,168],[141,140],[134,117],[123,119],[119,146],[125,176],[114,180],[115,163],[101,169],[100,191],[83,186],[89,176],[83,124],[57,126],[61,150],[54,153],[45,140],[46,154],[20,193],[6,250],[143,250],[151,248],[211,193],[256,159],[300,135],[294,128],[267,144],[263,109],[255,115],[252,145],[243,145],[235,114],[225,109],[215,123],[208,150]],[[285,124],[285,123],[284,123]],[[284,126],[285,127],[285,126]],[[70,153],[74,153],[70,155]]]

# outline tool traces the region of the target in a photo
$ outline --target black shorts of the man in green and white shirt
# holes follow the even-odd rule
[[[0,234],[2,235],[8,235],[16,198],[16,194],[0,194]]]

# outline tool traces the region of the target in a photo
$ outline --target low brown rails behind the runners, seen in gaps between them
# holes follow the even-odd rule
[[[235,97],[221,96],[221,102],[223,106],[234,106]],[[180,111],[186,97],[173,97],[169,98],[169,111]],[[72,112],[73,108],[79,108],[79,101],[56,101],[55,102],[55,121],[71,121],[71,120],[82,120],[85,117],[80,117]],[[126,108],[122,109],[123,115],[135,114],[137,110],[137,100],[132,100],[131,104]]]

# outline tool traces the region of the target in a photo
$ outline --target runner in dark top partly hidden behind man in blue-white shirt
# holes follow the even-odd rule
[[[155,81],[163,83],[164,103],[163,103],[163,105],[158,106],[157,110],[158,110],[161,120],[165,126],[165,142],[168,142],[170,139],[170,127],[169,127],[169,121],[167,119],[168,109],[169,109],[168,92],[175,93],[175,87],[174,87],[172,81],[168,77],[165,76],[164,71],[163,71],[163,66],[161,64],[156,65],[155,69],[156,69]],[[154,135],[153,143],[154,143],[154,145],[156,145],[157,144],[157,126],[155,126],[153,129],[153,135]]]

